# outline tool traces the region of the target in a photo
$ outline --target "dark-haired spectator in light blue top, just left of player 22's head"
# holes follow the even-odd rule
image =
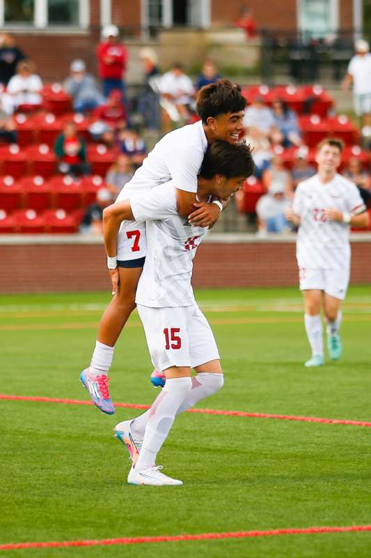
[[[284,147],[299,146],[303,143],[297,115],[282,100],[274,100],[271,105],[274,124],[271,128],[271,141]]]

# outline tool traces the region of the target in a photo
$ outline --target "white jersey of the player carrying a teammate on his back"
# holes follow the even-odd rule
[[[193,227],[177,214],[175,181],[130,198],[136,220],[146,220],[147,255],[136,303],[151,308],[191,306],[193,259],[205,227]],[[149,220],[157,216],[159,220]]]

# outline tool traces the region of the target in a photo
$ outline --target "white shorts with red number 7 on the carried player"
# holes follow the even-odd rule
[[[117,259],[127,262],[131,259],[145,257],[147,239],[143,221],[123,221],[117,235]]]

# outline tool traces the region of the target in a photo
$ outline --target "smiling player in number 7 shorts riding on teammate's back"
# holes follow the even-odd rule
[[[200,89],[196,109],[201,120],[164,136],[121,190],[116,203],[173,179],[180,215],[189,216],[195,225],[214,225],[224,202],[219,199],[197,202],[197,175],[207,146],[214,140],[239,143],[245,105],[241,88],[228,80]],[[135,308],[136,287],[146,250],[145,223],[123,221],[118,226],[117,252],[112,252],[107,261],[113,299],[102,316],[90,366],[80,375],[94,405],[107,414],[115,412],[107,373],[116,341]]]

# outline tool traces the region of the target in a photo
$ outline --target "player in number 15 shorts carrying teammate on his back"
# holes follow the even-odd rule
[[[248,146],[213,142],[198,176],[198,199],[228,200],[252,174]],[[147,255],[136,291],[136,305],[152,363],[166,384],[152,407],[115,427],[133,465],[127,478],[136,485],[180,485],[160,472],[156,456],[175,416],[223,386],[214,335],[198,308],[191,287],[193,259],[207,227],[191,225],[177,213],[175,181],[104,210],[107,254],[116,253],[117,227],[123,219],[147,221]],[[155,220],[154,220],[155,219]],[[196,377],[191,377],[191,368]]]

